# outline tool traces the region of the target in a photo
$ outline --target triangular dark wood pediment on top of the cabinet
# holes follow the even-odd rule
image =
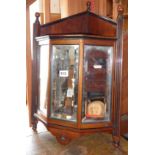
[[[116,37],[117,22],[105,17],[98,16],[90,11],[78,13],[60,20],[40,25],[39,14],[36,14],[36,36],[45,35],[96,35],[101,37]]]

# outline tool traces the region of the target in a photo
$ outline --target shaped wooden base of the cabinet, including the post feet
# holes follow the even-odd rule
[[[43,117],[39,117],[39,115],[37,114],[35,114],[35,117],[46,126],[47,130],[53,136],[55,136],[57,141],[62,145],[67,145],[73,139],[79,138],[84,135],[90,135],[90,134],[101,133],[101,132],[112,134],[112,130],[113,130],[112,126],[102,127],[102,128],[85,128],[85,129],[75,128],[75,127],[72,128],[72,127],[56,125],[52,123],[48,124],[46,120],[42,119]],[[33,124],[33,129],[36,130],[36,127],[37,127],[37,122]],[[112,138],[113,138],[113,145],[115,147],[119,147],[120,137],[113,135]]]

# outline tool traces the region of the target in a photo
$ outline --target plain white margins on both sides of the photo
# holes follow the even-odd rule
[[[129,0],[129,155],[155,154],[155,2]],[[26,2],[0,2],[0,154],[24,155]]]

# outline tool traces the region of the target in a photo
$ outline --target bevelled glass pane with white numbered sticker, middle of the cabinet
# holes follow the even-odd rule
[[[51,118],[76,122],[79,45],[53,45]]]

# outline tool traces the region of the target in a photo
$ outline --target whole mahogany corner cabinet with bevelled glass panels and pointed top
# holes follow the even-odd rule
[[[108,132],[120,143],[123,9],[114,21],[89,9],[34,23],[31,124],[61,144]]]

